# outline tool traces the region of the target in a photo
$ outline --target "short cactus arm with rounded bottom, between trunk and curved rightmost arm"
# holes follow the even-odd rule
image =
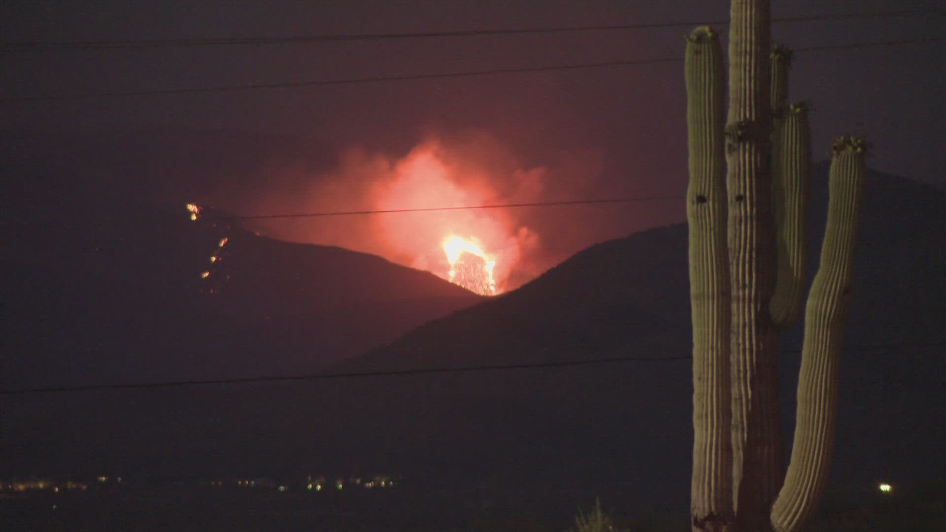
[[[779,149],[772,148],[775,157],[772,203],[776,212],[779,267],[769,310],[772,320],[780,328],[796,322],[804,298],[805,212],[812,168],[808,108],[804,102],[783,108],[784,117],[780,120],[777,140]]]

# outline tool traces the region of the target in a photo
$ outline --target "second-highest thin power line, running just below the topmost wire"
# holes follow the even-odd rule
[[[921,43],[938,43],[944,42],[946,38],[926,38],[926,39],[914,39],[914,40],[904,40],[904,41],[885,41],[877,43],[861,43],[861,44],[830,44],[823,46],[809,46],[803,48],[797,48],[796,52],[809,52],[809,51],[826,51],[826,50],[838,50],[846,48],[865,48],[872,46],[889,46],[889,45],[899,45],[899,44],[921,44]],[[507,74],[534,74],[539,72],[554,72],[554,71],[565,71],[565,70],[577,70],[585,68],[601,68],[608,66],[630,66],[630,65],[641,65],[641,64],[657,64],[662,62],[681,62],[683,61],[682,57],[672,57],[672,58],[659,58],[659,59],[645,59],[645,60],[630,60],[630,61],[606,61],[606,62],[582,62],[582,63],[573,63],[573,64],[560,64],[560,65],[550,65],[550,66],[527,66],[527,67],[512,67],[512,68],[490,68],[484,70],[467,70],[464,72],[446,72],[446,73],[437,73],[437,74],[409,74],[403,76],[368,76],[364,78],[352,78],[347,80],[308,80],[308,81],[288,81],[280,83],[250,83],[242,85],[219,85],[214,87],[190,87],[183,89],[154,89],[154,90],[143,90],[143,91],[127,91],[127,92],[114,92],[114,93],[85,93],[77,95],[59,95],[59,96],[38,96],[38,97],[14,97],[14,98],[0,98],[0,102],[3,103],[19,103],[27,101],[69,101],[69,100],[80,100],[80,99],[109,99],[109,98],[136,98],[136,97],[148,97],[148,96],[159,96],[159,95],[182,95],[182,94],[196,94],[196,93],[215,93],[215,92],[232,92],[232,91],[247,91],[247,90],[270,90],[270,89],[293,89],[293,88],[304,88],[304,87],[320,87],[328,85],[350,85],[358,83],[375,83],[382,81],[410,81],[410,80],[441,80],[448,78],[468,78],[473,76],[496,76],[496,75],[507,75]]]

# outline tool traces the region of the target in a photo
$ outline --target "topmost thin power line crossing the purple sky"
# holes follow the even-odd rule
[[[892,18],[924,15],[941,15],[935,10],[897,10],[872,13],[850,13],[835,15],[801,15],[795,17],[777,17],[772,23],[796,22],[829,22],[844,20],[860,20],[870,18]],[[134,48],[166,48],[189,46],[220,46],[235,44],[301,44],[301,43],[338,43],[352,41],[390,41],[408,39],[429,39],[444,37],[481,37],[496,35],[522,35],[534,33],[566,33],[579,31],[602,31],[623,29],[653,29],[663,27],[696,27],[704,25],[728,26],[728,20],[719,21],[690,21],[690,22],[660,22],[645,24],[624,24],[606,26],[567,26],[567,27],[532,27],[513,29],[471,29],[459,31],[422,31],[411,33],[360,33],[360,34],[330,34],[330,35],[297,35],[290,37],[209,37],[183,39],[140,39],[126,41],[20,41],[0,44],[2,51],[14,52],[44,52],[61,50],[83,49],[134,49]]]

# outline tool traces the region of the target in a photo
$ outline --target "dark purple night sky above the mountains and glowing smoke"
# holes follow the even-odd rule
[[[794,0],[774,17],[941,9],[937,1]],[[5,42],[282,37],[698,22],[727,19],[728,2],[114,2],[5,3]],[[773,25],[790,47],[946,36],[942,15]],[[0,54],[0,98],[248,83],[344,80],[492,68],[681,57],[689,27],[316,44],[229,45]],[[792,99],[814,102],[815,159],[832,136],[866,133],[871,166],[946,186],[946,42],[799,52]],[[537,74],[384,81],[71,101],[4,100],[10,132],[184,126],[322,138],[392,158],[435,134],[482,134],[521,168],[552,172],[538,199],[679,194],[686,186],[682,62]],[[597,161],[585,171],[561,159]],[[592,168],[593,167],[593,168]],[[263,181],[264,176],[260,176]],[[265,176],[271,182],[278,177]],[[550,178],[552,179],[552,178]],[[563,185],[565,181],[572,181]],[[579,185],[575,185],[575,184]],[[558,188],[556,188],[558,186]],[[237,195],[243,193],[239,190]],[[255,196],[257,189],[246,190]],[[239,208],[245,205],[236,205]],[[271,210],[278,208],[267,204]],[[287,205],[285,208],[296,208]],[[680,204],[612,209],[597,229],[562,243],[553,259],[589,243],[683,219]],[[622,218],[623,217],[623,218]],[[609,222],[611,219],[620,222]],[[586,222],[583,222],[586,223]],[[534,223],[533,223],[534,224]],[[546,228],[544,237],[550,229]],[[289,238],[301,239],[289,235]],[[579,241],[581,240],[581,241]],[[549,239],[546,238],[546,242]],[[563,241],[565,241],[563,239]]]

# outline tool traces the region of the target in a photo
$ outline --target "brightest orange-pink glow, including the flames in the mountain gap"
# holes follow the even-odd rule
[[[474,161],[475,163],[475,161]],[[423,143],[387,168],[370,195],[379,210],[500,204],[498,179],[437,142]],[[427,270],[465,289],[495,295],[536,237],[507,209],[400,212],[375,217],[395,262]]]

